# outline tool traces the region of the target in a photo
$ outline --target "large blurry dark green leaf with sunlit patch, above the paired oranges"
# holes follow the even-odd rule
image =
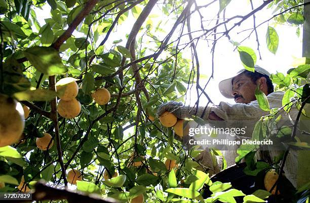
[[[26,49],[25,57],[38,71],[48,75],[62,74],[68,71],[55,48],[33,46]]]

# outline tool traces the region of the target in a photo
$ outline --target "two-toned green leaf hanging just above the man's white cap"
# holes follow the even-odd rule
[[[244,68],[254,72],[254,65],[256,64],[256,54],[254,50],[247,46],[238,46],[237,49]]]

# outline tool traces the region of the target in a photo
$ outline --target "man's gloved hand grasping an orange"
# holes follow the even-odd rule
[[[160,117],[164,112],[168,111],[174,114],[179,119],[188,118],[189,111],[191,108],[189,106],[184,106],[181,102],[168,102],[162,104],[157,110],[157,116]]]

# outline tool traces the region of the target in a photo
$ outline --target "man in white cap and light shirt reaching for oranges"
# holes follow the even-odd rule
[[[181,103],[169,102],[160,106],[158,110],[158,116],[160,116],[165,111],[169,111],[179,119],[184,119],[195,115],[196,112],[196,116],[201,117],[208,123],[212,123],[213,121],[223,121],[225,126],[230,128],[238,126],[244,127],[246,125],[247,134],[243,136],[252,137],[255,123],[262,116],[269,114],[269,112],[263,111],[259,108],[255,97],[256,87],[258,87],[259,90],[261,90],[266,95],[270,109],[282,107],[282,98],[284,96],[284,92],[274,92],[274,86],[269,76],[270,74],[268,71],[259,66],[255,66],[255,72],[250,72],[243,69],[240,70],[234,77],[221,81],[219,83],[219,89],[222,95],[226,98],[234,98],[237,104],[231,105],[225,102],[221,102],[218,106],[212,105],[208,107],[198,107],[196,109],[184,107]],[[296,108],[292,107],[289,115],[290,118],[294,120],[297,116],[297,113],[298,111]],[[284,110],[281,110],[279,114],[281,114],[283,121],[286,120],[285,118],[288,118],[288,115]],[[240,139],[240,136],[236,135],[234,138]],[[272,157],[272,159],[278,154],[279,153],[276,151],[270,151],[270,157]],[[238,155],[236,151],[234,151],[234,153],[226,153],[225,159],[227,161],[227,165],[231,166],[235,164],[235,158],[237,156]],[[287,178],[295,187],[295,171],[297,166],[296,160],[297,159],[294,153],[290,153],[284,167]]]

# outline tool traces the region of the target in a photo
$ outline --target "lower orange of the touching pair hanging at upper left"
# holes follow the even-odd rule
[[[72,119],[80,114],[81,104],[75,98],[68,101],[60,99],[57,110],[61,117]]]

